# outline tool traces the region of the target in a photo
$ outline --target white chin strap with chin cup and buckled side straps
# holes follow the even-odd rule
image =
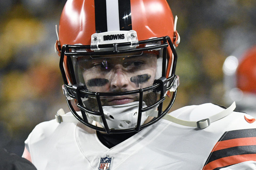
[[[132,103],[127,103],[124,105],[115,105],[115,106],[103,106],[103,111],[107,120],[107,124],[109,125],[109,128],[115,128],[115,129],[125,129],[125,128],[134,128],[135,125],[137,125],[137,118],[138,114],[135,114],[138,111],[138,104],[139,102],[135,101]],[[145,103],[143,102],[143,108],[146,107]],[[171,116],[170,114],[166,114],[163,116],[163,119],[174,122],[179,125],[183,126],[190,126],[190,127],[197,127],[198,129],[203,129],[208,126],[210,126],[210,123],[215,122],[219,119],[222,119],[223,117],[226,117],[230,113],[232,113],[235,109],[235,102],[233,102],[230,107],[226,108],[225,110],[214,114],[213,116],[210,116],[209,118],[199,120],[199,121],[185,121],[178,118],[175,118]],[[121,111],[121,112],[120,112]],[[79,113],[79,112],[78,112]],[[110,114],[111,113],[111,114]],[[63,109],[59,109],[57,114],[55,115],[55,119],[58,123],[61,122],[79,122],[73,115],[64,115],[65,112]],[[80,112],[81,114],[81,112]],[[158,111],[151,109],[146,112],[142,112],[142,118],[141,118],[141,125],[145,122],[148,116],[157,117]],[[95,116],[91,114],[87,114],[88,120],[94,120],[96,122],[99,122],[102,126],[102,120],[100,116]],[[111,116],[114,118],[111,118]],[[113,126],[113,127],[112,127]]]

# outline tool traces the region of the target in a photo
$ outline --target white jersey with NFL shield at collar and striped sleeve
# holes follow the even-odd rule
[[[207,103],[170,114],[198,121],[222,110]],[[99,141],[95,130],[80,122],[51,120],[37,125],[25,144],[38,170],[249,170],[256,168],[256,122],[251,118],[232,112],[200,130],[160,120],[110,149]]]

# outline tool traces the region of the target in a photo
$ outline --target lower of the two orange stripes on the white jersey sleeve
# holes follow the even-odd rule
[[[220,158],[206,164],[202,170],[213,170],[218,167],[225,167],[228,165],[238,164],[249,160],[256,161],[256,154],[234,155]]]

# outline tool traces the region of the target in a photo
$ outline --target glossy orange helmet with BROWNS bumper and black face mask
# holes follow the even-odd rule
[[[165,0],[68,0],[55,51],[73,115],[106,133],[160,120],[179,85],[176,22]],[[162,111],[166,95],[172,98]]]

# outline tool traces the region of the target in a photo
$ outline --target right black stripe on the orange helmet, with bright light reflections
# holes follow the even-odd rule
[[[121,31],[132,30],[131,2],[130,0],[118,0],[119,26]]]

